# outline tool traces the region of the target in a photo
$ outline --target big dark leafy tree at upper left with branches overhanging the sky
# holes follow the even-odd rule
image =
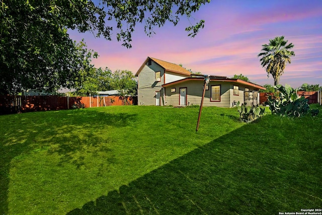
[[[183,16],[191,17],[210,0],[190,1],[78,1],[3,0],[0,7],[0,93],[26,89],[54,90],[73,87],[78,71],[93,67],[84,42],[73,42],[67,29],[91,31],[131,47],[137,23],[145,33],[166,22],[177,25]],[[194,37],[204,21],[188,26]],[[78,82],[82,81],[78,79]]]

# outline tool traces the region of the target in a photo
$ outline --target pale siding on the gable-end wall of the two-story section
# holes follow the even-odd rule
[[[155,71],[160,71],[160,82],[155,82]],[[138,105],[155,105],[155,91],[161,90],[165,82],[164,74],[165,70],[153,61],[151,65],[144,65],[138,75]]]

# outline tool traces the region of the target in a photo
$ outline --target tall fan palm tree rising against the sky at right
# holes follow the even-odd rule
[[[260,59],[263,67],[266,67],[267,76],[270,74],[274,78],[274,85],[278,85],[280,77],[284,72],[286,63],[291,63],[291,56],[294,56],[294,51],[289,49],[293,48],[292,43],[287,44],[288,40],[284,40],[284,36],[275,37],[270,40],[269,44],[262,45],[262,56]]]

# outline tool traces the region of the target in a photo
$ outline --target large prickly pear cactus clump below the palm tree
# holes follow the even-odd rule
[[[297,89],[274,86],[278,90],[276,98],[269,96],[268,103],[273,114],[300,117],[309,110],[308,100],[297,95]]]

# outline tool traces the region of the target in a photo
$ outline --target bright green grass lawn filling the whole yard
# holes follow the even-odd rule
[[[278,214],[322,208],[317,117],[111,106],[1,115],[2,214]]]

